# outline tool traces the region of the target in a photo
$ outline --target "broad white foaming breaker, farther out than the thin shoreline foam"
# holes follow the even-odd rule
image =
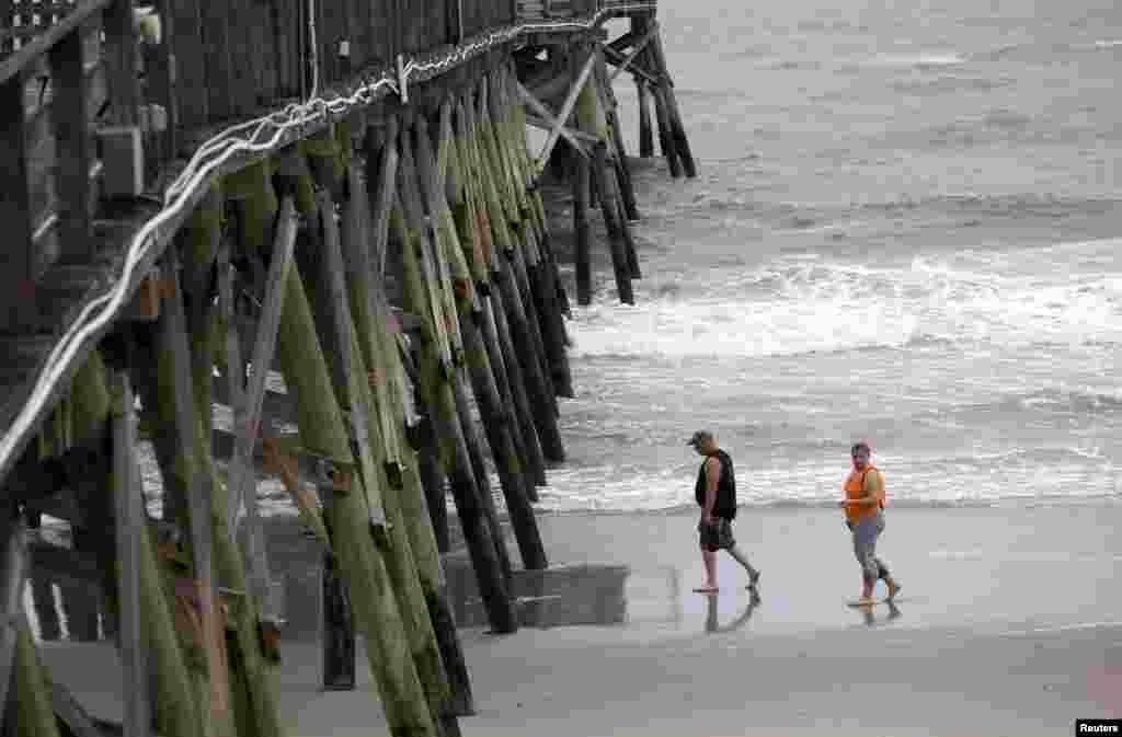
[[[633,307],[605,300],[578,308],[572,354],[751,358],[955,343],[1113,344],[1122,342],[1122,276],[1100,270],[1106,250],[1097,242],[967,249],[884,266],[781,254],[751,267],[734,254],[707,271],[644,280]],[[1073,274],[1072,265],[1086,259],[1100,266]]]

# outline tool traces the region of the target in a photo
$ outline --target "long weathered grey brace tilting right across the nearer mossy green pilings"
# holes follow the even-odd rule
[[[258,321],[257,335],[254,343],[252,374],[245,393],[242,407],[237,406],[237,397],[231,385],[230,400],[234,409],[234,430],[238,444],[234,450],[233,463],[230,468],[230,540],[238,534],[238,525],[245,506],[245,514],[250,520],[257,519],[257,485],[254,481],[254,469],[250,459],[254,445],[260,436],[261,406],[265,400],[265,380],[268,367],[273,363],[276,352],[277,328],[280,325],[280,313],[284,307],[285,283],[292,264],[293,250],[296,245],[296,206],[292,197],[285,197],[280,205],[279,224],[276,240],[273,245],[273,258],[269,262],[269,275],[265,284],[264,306]],[[240,363],[240,361],[239,361]],[[240,366],[231,365],[231,377],[240,381]],[[239,413],[239,409],[241,412]],[[252,535],[252,534],[251,534]]]

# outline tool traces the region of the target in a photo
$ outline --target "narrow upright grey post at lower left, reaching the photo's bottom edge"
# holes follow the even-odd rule
[[[136,446],[135,403],[132,386],[127,374],[119,372],[117,375],[113,389],[117,400],[113,416],[113,506],[116,513],[113,516],[120,601],[118,632],[125,678],[121,684],[125,700],[123,724],[127,737],[144,737],[149,731],[148,658],[140,610],[140,529],[146,522],[144,510],[140,507],[140,477],[132,455]],[[209,568],[209,555],[205,556],[204,562]],[[206,610],[203,611],[205,621]],[[210,650],[208,648],[208,652]],[[209,661],[208,664],[210,667],[221,667],[224,672],[226,663],[221,661]],[[212,672],[211,682],[221,683],[222,678]],[[214,693],[213,695],[220,697],[221,694]],[[212,706],[215,709],[219,708],[218,704]]]

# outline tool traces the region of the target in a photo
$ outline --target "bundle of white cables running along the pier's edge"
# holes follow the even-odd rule
[[[309,4],[312,4],[312,2],[313,0],[309,0]],[[430,62],[411,59],[405,65],[403,77],[408,80],[410,75],[414,72],[423,74],[453,66],[465,59],[471,58],[481,50],[504,44],[525,33],[561,30],[565,28],[591,28],[610,12],[647,10],[655,7],[656,3],[654,2],[600,3],[601,9],[586,22],[540,22],[512,26],[506,29],[493,31],[467,46],[458,47],[439,59]],[[319,56],[318,50],[314,48],[315,22],[311,12],[309,13],[309,21],[310,31],[313,37],[312,66],[314,70],[313,85],[315,85],[312,89],[313,94],[303,103],[292,103],[283,110],[270,112],[248,122],[231,126],[206,140],[195,150],[195,154],[187,162],[183,172],[168,185],[164,195],[164,209],[146,222],[136,236],[132,237],[121,274],[110,292],[86,304],[77,319],[71,324],[71,328],[50,350],[45,368],[36,379],[35,386],[27,397],[27,402],[19,411],[19,414],[16,415],[11,426],[4,432],[3,437],[0,437],[0,469],[8,466],[19,441],[34,429],[35,415],[50,398],[50,393],[54,391],[55,386],[62,380],[70,361],[74,358],[82,343],[107,322],[117,316],[118,311],[121,308],[121,303],[125,301],[125,293],[131,282],[132,273],[139,262],[144,260],[145,256],[147,256],[148,251],[151,250],[153,236],[162,225],[172,220],[186,206],[187,201],[196,190],[206,183],[213,172],[238,154],[272,150],[291,128],[311,125],[328,113],[339,116],[352,107],[359,104],[368,105],[376,99],[381,87],[389,87],[395,92],[399,92],[395,80],[388,76],[389,73],[387,72],[376,81],[359,86],[348,96],[337,96],[331,100],[323,100],[315,96],[319,86]],[[269,128],[273,128],[273,135],[267,140],[258,142],[261,135]],[[252,133],[248,138],[233,138],[236,133],[249,129],[252,129]],[[91,314],[102,305],[104,305],[104,308],[101,313],[91,319]]]

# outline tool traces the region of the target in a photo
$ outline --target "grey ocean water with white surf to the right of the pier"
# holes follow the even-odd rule
[[[569,323],[541,509],[1122,498],[1122,7],[660,3],[699,176],[636,173],[644,278]],[[637,150],[634,86],[617,96]]]

